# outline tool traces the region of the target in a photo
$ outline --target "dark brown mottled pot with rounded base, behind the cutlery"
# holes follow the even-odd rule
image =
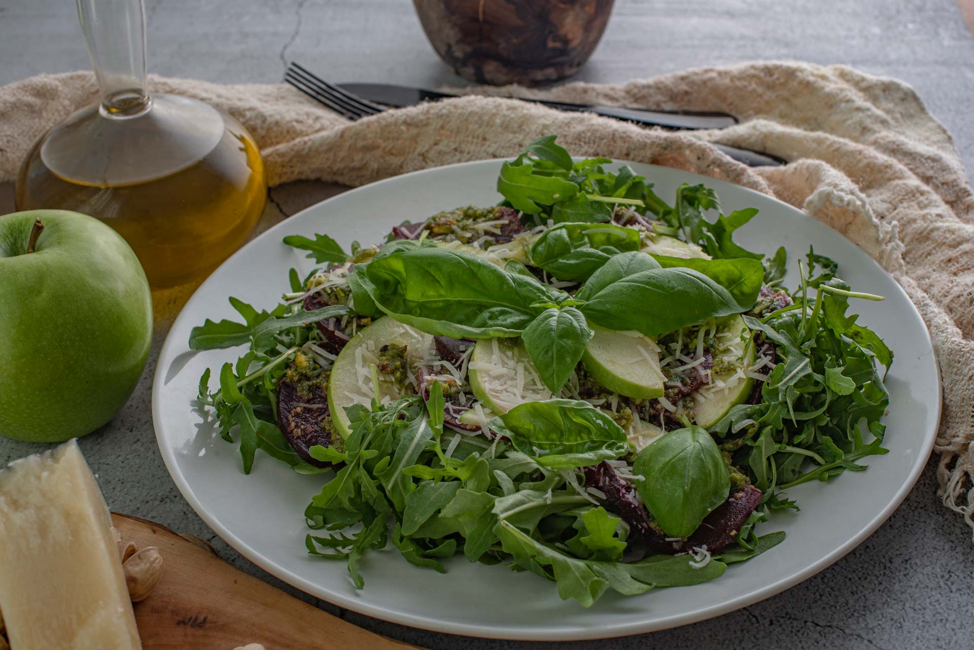
[[[436,54],[481,84],[544,84],[578,72],[613,0],[413,0]]]

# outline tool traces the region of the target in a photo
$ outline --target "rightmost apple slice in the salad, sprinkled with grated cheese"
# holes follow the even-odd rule
[[[714,367],[727,369],[714,373],[709,383],[693,393],[696,423],[705,429],[743,403],[754,386],[748,373],[755,363],[756,350],[744,319],[731,316],[718,325],[715,338]]]

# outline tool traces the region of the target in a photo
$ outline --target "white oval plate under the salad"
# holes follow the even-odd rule
[[[876,329],[896,361],[886,378],[885,422],[889,453],[867,458],[866,472],[846,472],[830,483],[789,490],[801,513],[776,514],[761,530],[783,529],[785,541],[768,553],[729,567],[718,580],[643,596],[603,596],[590,609],[561,600],[553,583],[503,565],[470,564],[460,556],[439,574],[403,560],[390,545],[362,561],[365,588],[356,590],[345,563],[305,552],[303,512],[322,479],[298,476],[258,452],[245,476],[236,445],[219,438],[195,403],[198,380],[209,367],[233,361],[244,348],[194,353],[190,329],[205,318],[239,320],[227,303],[235,296],[254,307],[273,307],[287,290],[287,270],[302,276],[313,262],[281,243],[284,235],[325,233],[343,245],[377,242],[393,225],[420,220],[458,205],[489,205],[500,161],[468,162],[396,176],[313,205],[248,243],[215,271],[190,299],[169,331],[156,369],[152,414],[159,449],[176,486],[200,517],[247,559],[309,594],[357,612],[438,632],[516,639],[567,640],[650,632],[724,614],[785,590],[839,560],[892,514],[917,480],[940,417],[940,379],[917,309],[903,290],[843,235],[803,212],[730,183],[647,164],[635,170],[671,198],[685,182],[717,190],[725,212],[760,208],[739,242],[789,253],[795,260],[811,244],[839,262],[857,291],[886,297],[854,301],[861,322]]]

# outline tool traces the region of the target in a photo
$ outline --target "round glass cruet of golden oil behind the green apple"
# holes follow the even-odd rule
[[[74,210],[114,228],[165,318],[256,225],[267,199],[263,162],[226,113],[190,97],[150,96],[142,0],[78,0],[78,16],[101,99],[34,145],[20,167],[17,207]]]

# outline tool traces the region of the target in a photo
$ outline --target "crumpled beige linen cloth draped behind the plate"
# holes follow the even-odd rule
[[[974,195],[947,130],[906,85],[844,66],[750,63],[622,86],[540,92],[577,102],[725,111],[739,126],[673,133],[509,99],[468,96],[350,123],[287,86],[151,80],[225,109],[256,137],[272,185],[321,179],[361,185],[451,162],[513,157],[557,133],[576,155],[656,162],[722,178],[804,209],[869,253],[903,286],[929,327],[944,379],[936,441],[944,503],[974,527]],[[96,97],[90,73],[0,88],[0,182],[47,128]],[[792,161],[749,168],[707,141]]]

